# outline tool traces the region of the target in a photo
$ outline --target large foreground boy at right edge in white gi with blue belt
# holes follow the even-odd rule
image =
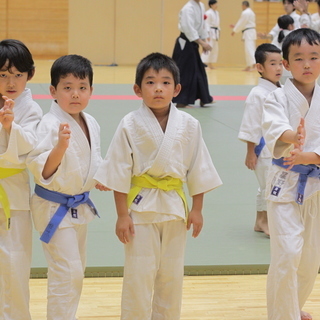
[[[301,28],[282,46],[293,78],[271,92],[263,131],[273,157],[267,181],[269,320],[309,320],[302,308],[320,265],[320,35]]]

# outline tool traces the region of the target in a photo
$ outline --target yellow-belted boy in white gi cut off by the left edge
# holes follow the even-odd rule
[[[26,156],[36,146],[42,110],[27,81],[32,55],[19,40],[0,42],[0,318],[30,320],[32,251],[29,174]]]

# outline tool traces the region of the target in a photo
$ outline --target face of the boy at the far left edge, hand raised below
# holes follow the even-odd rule
[[[14,66],[10,72],[6,65],[0,70],[0,94],[9,99],[16,99],[26,88],[28,72],[20,72]]]

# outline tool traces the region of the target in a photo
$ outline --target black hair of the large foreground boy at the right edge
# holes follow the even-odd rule
[[[320,34],[309,28],[301,28],[291,31],[283,40],[282,54],[283,59],[288,60],[289,49],[292,45],[300,46],[302,41],[305,40],[311,46],[320,45]]]

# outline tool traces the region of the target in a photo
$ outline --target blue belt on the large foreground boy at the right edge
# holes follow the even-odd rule
[[[283,164],[283,158],[272,159],[272,163],[285,169],[289,167],[288,165]],[[290,169],[290,171],[299,173],[296,202],[298,204],[303,204],[304,189],[306,187],[307,180],[308,178],[320,179],[320,168],[315,164],[308,164],[308,165],[298,164],[293,166]]]

